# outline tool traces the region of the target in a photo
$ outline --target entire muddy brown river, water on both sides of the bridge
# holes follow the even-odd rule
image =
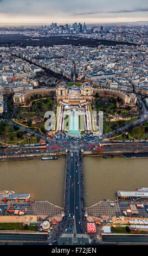
[[[148,187],[148,159],[83,157],[86,206],[115,199],[117,190]],[[30,193],[33,200],[63,206],[66,158],[0,162],[0,190]]]

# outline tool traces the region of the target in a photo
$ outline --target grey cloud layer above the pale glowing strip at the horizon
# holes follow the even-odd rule
[[[146,11],[147,0],[0,0],[0,13],[91,15]]]

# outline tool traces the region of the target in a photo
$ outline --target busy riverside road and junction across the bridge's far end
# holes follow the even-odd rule
[[[76,139],[75,139],[76,140]],[[56,153],[57,149],[53,148],[53,145],[58,145],[61,148],[58,150],[60,151],[66,151],[68,150],[85,150],[85,151],[92,151],[94,147],[98,147],[98,143],[102,143],[102,147],[98,150],[96,149],[93,151],[93,154],[99,154],[99,155],[107,155],[107,154],[113,154],[113,155],[121,155],[121,154],[137,154],[140,153],[140,157],[145,157],[146,155],[142,155],[142,153],[148,153],[148,143],[147,142],[118,142],[118,143],[111,143],[111,142],[101,142],[96,141],[94,142],[93,148],[89,148],[89,141],[85,142],[83,144],[83,141],[74,141],[72,138],[70,138],[68,141],[65,139],[60,142],[60,139],[51,139],[50,143],[47,142],[47,148],[41,149],[42,146],[37,147],[36,145],[31,145],[28,147],[24,147],[24,145],[16,145],[16,147],[10,147],[10,145],[7,148],[0,148],[0,157],[28,157],[28,156],[42,156],[42,155],[50,155],[50,153]],[[46,143],[45,143],[46,146]]]

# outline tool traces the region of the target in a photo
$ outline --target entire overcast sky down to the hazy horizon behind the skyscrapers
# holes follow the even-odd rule
[[[148,21],[148,0],[0,0],[0,23]]]

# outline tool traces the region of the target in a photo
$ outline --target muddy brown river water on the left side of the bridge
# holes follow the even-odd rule
[[[0,191],[30,193],[32,200],[49,200],[63,206],[65,168],[65,157],[0,162]]]

